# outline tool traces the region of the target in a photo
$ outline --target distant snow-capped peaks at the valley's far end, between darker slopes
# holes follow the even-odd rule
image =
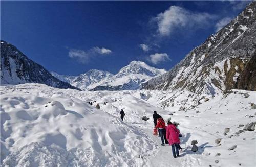
[[[151,67],[144,62],[132,61],[116,75],[96,69],[79,76],[64,76],[57,73],[52,75],[83,90],[136,90],[140,88],[141,83],[165,72],[164,69]]]

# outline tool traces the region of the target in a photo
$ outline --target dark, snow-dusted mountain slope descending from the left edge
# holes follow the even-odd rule
[[[1,85],[41,83],[56,88],[71,88],[67,82],[60,81],[51,75],[44,67],[33,62],[14,45],[1,40]],[[79,90],[79,89],[78,89]]]

